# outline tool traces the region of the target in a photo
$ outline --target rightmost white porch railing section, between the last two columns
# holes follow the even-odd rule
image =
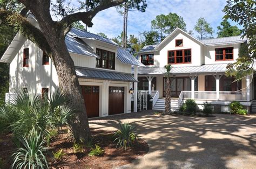
[[[243,91],[220,91],[219,100],[246,101],[246,92]]]

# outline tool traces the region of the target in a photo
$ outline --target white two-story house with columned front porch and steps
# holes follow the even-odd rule
[[[187,99],[214,105],[215,111],[228,111],[228,104],[239,101],[249,107],[254,100],[253,77],[235,81],[225,76],[228,63],[238,58],[246,39],[240,36],[198,40],[176,29],[158,45],[145,46],[138,60],[146,67],[136,70],[138,89],[153,93],[153,109],[164,110],[165,68],[171,64],[172,109]]]

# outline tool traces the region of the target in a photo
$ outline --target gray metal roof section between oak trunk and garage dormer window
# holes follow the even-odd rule
[[[69,33],[65,37],[65,43],[68,51],[71,53],[99,58],[99,56],[95,52],[93,52],[93,49],[89,45],[84,43],[84,41],[81,39],[72,37]]]

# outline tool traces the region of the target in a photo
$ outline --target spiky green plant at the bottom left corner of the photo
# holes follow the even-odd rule
[[[14,163],[12,167],[15,168],[48,168],[48,163],[43,152],[46,150],[43,144],[45,143],[42,137],[35,135],[29,137],[22,137],[22,147],[12,154],[14,156]]]

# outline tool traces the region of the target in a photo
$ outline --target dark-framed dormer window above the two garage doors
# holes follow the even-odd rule
[[[114,52],[105,51],[97,48],[96,53],[100,57],[96,59],[96,67],[114,69],[116,58]]]

